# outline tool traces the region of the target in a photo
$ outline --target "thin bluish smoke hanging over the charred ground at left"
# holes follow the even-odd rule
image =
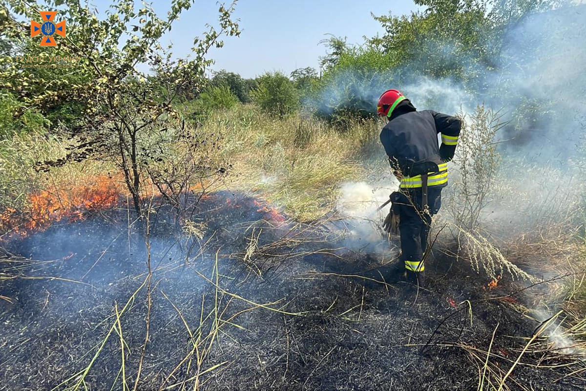
[[[8,253],[30,260],[5,259],[0,251],[0,345],[12,346],[0,349],[0,361],[10,361],[4,368],[6,384],[0,388],[52,389],[70,377],[69,371],[86,365],[84,359],[104,341],[99,357],[95,357],[91,381],[94,389],[109,389],[118,373],[120,355],[119,345],[111,339],[106,344],[108,329],[114,308],[122,313],[127,302],[124,316],[118,320],[128,346],[126,368],[136,373],[147,317],[150,331],[144,378],[159,381],[161,373],[173,373],[182,361],[183,347],[191,348],[191,342],[182,342],[190,341],[187,325],[201,330],[206,341],[205,333],[217,327],[218,318],[233,321],[234,314],[250,314],[251,302],[233,300],[224,290],[271,304],[291,293],[289,286],[268,288],[248,276],[253,271],[262,272],[267,280],[277,280],[276,268],[269,269],[271,257],[256,252],[281,239],[284,233],[275,227],[281,225],[283,216],[262,200],[231,192],[209,195],[186,213],[193,221],[186,231],[192,234],[175,224],[172,208],[159,207],[157,200],[152,205],[157,206],[151,210],[148,246],[144,234],[134,233],[128,226],[127,210],[122,208],[94,210],[84,216],[87,218],[73,222],[63,219],[2,243]],[[305,246],[311,246],[311,238],[307,242]],[[279,246],[277,243],[271,250],[291,259],[299,244]],[[282,257],[277,257],[280,266],[288,267],[291,262],[282,261]],[[142,283],[151,271],[152,284],[147,288]],[[147,302],[152,302],[152,308],[147,309]],[[280,305],[281,310],[284,307]],[[213,311],[217,317],[206,317]],[[250,341],[250,336],[247,338]],[[241,351],[241,345],[234,346]],[[235,351],[231,358],[237,356]]]

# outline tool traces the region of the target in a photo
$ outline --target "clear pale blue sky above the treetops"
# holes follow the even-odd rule
[[[159,15],[165,15],[170,1],[153,3]],[[93,4],[103,13],[110,2],[94,0]],[[166,37],[173,44],[175,56],[190,53],[193,37],[202,32],[205,23],[217,21],[217,9],[214,0],[196,0],[183,13]],[[240,0],[234,16],[240,19],[242,34],[225,39],[222,49],[210,52],[216,61],[212,69],[226,69],[243,77],[274,70],[288,74],[306,66],[317,69],[319,56],[326,51],[318,43],[327,38],[326,33],[347,36],[349,43],[361,43],[364,35],[383,32],[371,12],[402,15],[415,9],[411,0]]]

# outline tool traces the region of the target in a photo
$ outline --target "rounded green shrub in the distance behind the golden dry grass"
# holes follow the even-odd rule
[[[265,73],[258,77],[257,82],[258,89],[251,96],[265,112],[284,117],[299,107],[299,93],[284,74]]]

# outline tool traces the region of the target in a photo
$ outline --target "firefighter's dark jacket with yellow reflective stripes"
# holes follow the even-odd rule
[[[461,127],[458,118],[432,110],[391,117],[380,132],[380,142],[402,189],[421,188],[421,175],[412,171],[413,165],[421,162],[434,162],[439,168],[437,172],[428,172],[428,186],[447,185],[447,162],[454,157]],[[441,147],[438,134],[441,134]]]

